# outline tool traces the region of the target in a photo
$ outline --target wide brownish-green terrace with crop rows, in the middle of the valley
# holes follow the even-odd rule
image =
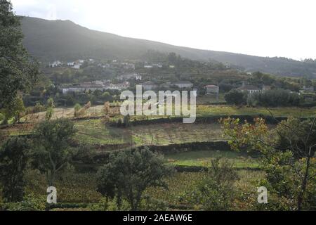
[[[79,130],[78,141],[93,144],[124,144],[136,146],[164,146],[173,143],[190,143],[195,141],[216,141],[222,139],[220,124],[183,124],[162,123],[138,125],[129,128],[110,127],[101,120],[84,120],[76,122]]]

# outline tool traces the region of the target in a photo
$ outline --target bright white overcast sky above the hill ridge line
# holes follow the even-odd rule
[[[11,0],[17,15],[253,56],[316,59],[315,0]]]

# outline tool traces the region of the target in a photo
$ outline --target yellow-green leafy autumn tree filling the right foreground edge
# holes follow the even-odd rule
[[[316,195],[315,122],[315,118],[303,122],[289,118],[269,130],[260,118],[254,124],[239,124],[238,119],[228,118],[223,125],[232,149],[261,154],[267,174],[263,186],[269,186],[271,193],[289,200],[289,204],[294,203],[290,208],[302,210],[316,204],[312,197]]]

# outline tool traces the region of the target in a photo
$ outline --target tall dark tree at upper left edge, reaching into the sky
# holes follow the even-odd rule
[[[22,46],[20,18],[12,10],[10,1],[0,0],[0,108],[6,108],[39,75],[38,64]]]

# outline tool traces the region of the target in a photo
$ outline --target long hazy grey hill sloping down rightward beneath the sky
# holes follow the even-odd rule
[[[182,46],[121,37],[89,30],[70,20],[44,20],[24,17],[24,44],[35,57],[44,61],[96,59],[143,59],[148,50],[175,52],[193,60],[217,60],[244,68],[276,75],[316,77],[316,63],[287,58],[265,58],[238,53],[190,49]],[[232,37],[233,38],[233,37]]]

